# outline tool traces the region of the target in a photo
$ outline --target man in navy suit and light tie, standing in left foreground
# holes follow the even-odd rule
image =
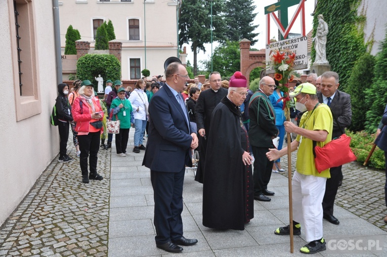
[[[149,105],[149,137],[143,165],[151,170],[154,195],[156,246],[181,252],[178,245],[194,245],[196,239],[183,236],[183,182],[185,166],[192,166],[191,149],[198,146],[180,92],[189,79],[178,62],[168,65],[166,83],[153,95]]]

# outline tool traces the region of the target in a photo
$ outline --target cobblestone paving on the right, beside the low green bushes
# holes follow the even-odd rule
[[[291,156],[293,172],[295,161],[296,151]],[[281,158],[281,164],[282,167],[287,167],[286,156]],[[287,177],[287,172],[281,174]],[[335,204],[387,231],[387,224],[383,222],[383,218],[387,215],[384,200],[384,170],[364,167],[360,162],[351,162],[342,166],[342,174],[344,180],[342,186],[338,188]],[[340,220],[340,217],[336,218]]]

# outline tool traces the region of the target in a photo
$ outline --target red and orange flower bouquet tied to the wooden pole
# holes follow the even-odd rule
[[[280,91],[283,92],[283,97],[278,100],[284,102],[285,106],[290,108],[294,106],[293,101],[290,101],[289,97],[289,82],[293,81],[294,75],[290,72],[293,71],[293,62],[295,59],[295,53],[290,50],[272,50],[270,52],[270,60],[272,68],[274,69],[274,79],[277,80],[280,85]]]

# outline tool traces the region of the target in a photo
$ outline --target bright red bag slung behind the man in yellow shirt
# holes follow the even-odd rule
[[[313,143],[315,143],[314,141]],[[324,147],[315,146],[313,153],[315,155],[315,165],[319,173],[331,167],[337,167],[342,164],[356,160],[355,154],[352,152],[351,138],[346,134],[333,139]]]

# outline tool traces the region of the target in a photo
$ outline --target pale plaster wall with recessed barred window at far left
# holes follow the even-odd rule
[[[0,225],[59,152],[51,1],[0,0]],[[15,15],[15,12],[17,15]]]

